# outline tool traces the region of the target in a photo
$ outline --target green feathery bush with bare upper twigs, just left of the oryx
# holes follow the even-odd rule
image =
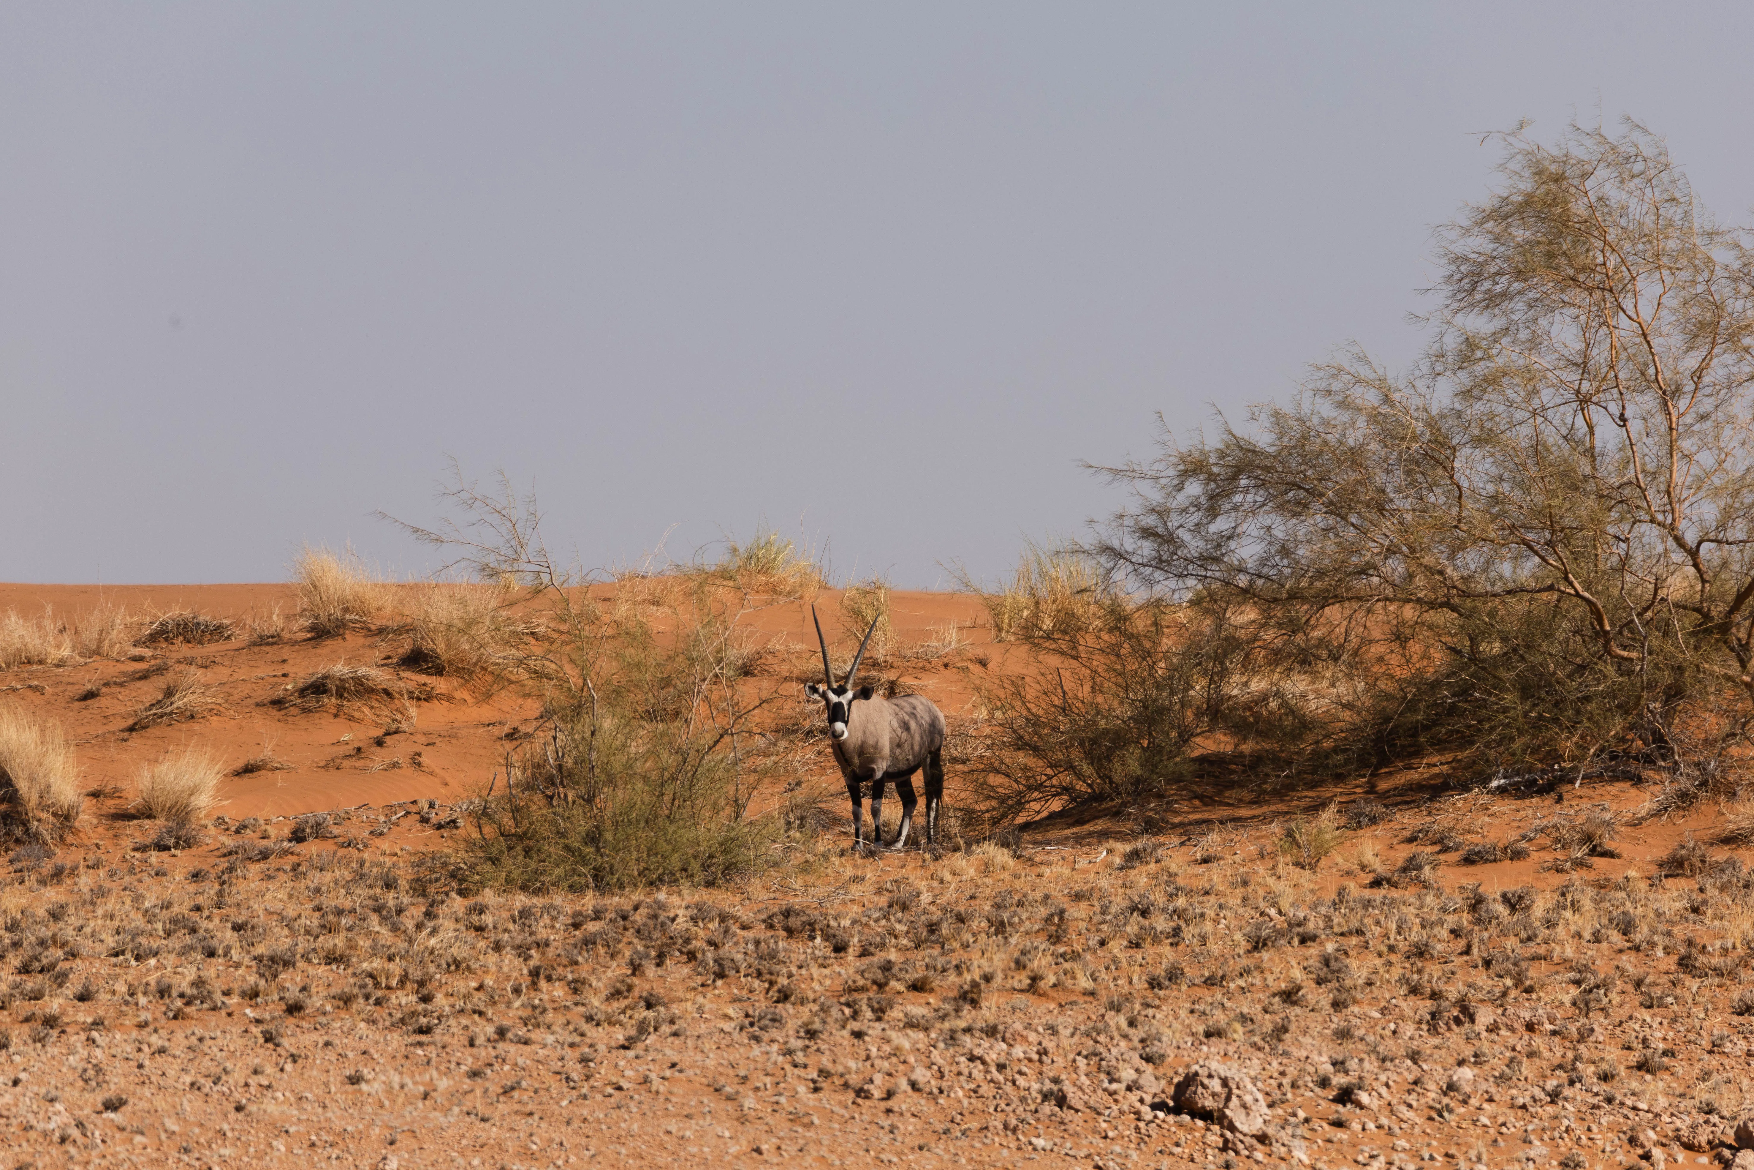
[[[477,800],[461,881],[710,886],[765,865],[782,823],[747,807],[781,760],[752,724],[770,700],[735,686],[747,668],[747,593],[688,574],[602,607],[579,588],[582,574],[547,554],[533,500],[461,481],[449,496],[461,523],[412,531],[460,551],[477,579],[521,589],[547,630],[519,670],[542,696],[547,733]]]

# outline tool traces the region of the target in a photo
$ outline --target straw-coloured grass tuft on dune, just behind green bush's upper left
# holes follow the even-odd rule
[[[391,635],[409,639],[398,665],[453,679],[505,675],[517,667],[528,628],[510,614],[502,586],[424,582],[398,589]]]

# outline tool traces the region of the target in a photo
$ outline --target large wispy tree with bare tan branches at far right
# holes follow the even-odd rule
[[[1636,123],[1501,142],[1438,233],[1421,361],[1344,353],[1105,468],[1133,502],[1093,553],[1240,602],[1263,663],[1349,672],[1333,709],[1379,751],[1673,760],[1689,703],[1754,695],[1754,254]]]

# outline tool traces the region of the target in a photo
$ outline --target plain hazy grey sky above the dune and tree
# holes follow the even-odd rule
[[[1754,203],[1754,9],[5,4],[0,579],[412,570],[447,454],[588,563],[1005,570],[1080,460],[1389,360],[1480,132]]]

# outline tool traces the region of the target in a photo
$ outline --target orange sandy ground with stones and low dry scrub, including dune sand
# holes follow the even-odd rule
[[[0,609],[95,600],[79,589],[5,586]],[[286,595],[125,600],[240,616]],[[968,598],[893,607],[898,642],[973,617]],[[814,651],[807,621],[761,616]],[[952,714],[1003,656],[980,633],[914,672]],[[1238,805],[1163,809],[1151,837],[1045,824],[1016,851],[852,858],[824,833],[735,889],[460,895],[431,863],[470,831],[453,805],[533,710],[447,693],[379,744],[370,721],[263,705],[382,653],[172,649],[223,709],[139,733],[121,728],[158,660],[0,674],[105,793],[60,851],[9,854],[7,1165],[1582,1170],[1728,1161],[1754,1109],[1754,877],[1721,845],[1663,868],[1717,809],[1647,821],[1651,791],[1621,782],[1401,781],[1314,872],[1275,849],[1293,809]],[[89,681],[103,693],[77,702]],[[296,767],[228,781],[196,847],[142,853],[133,770],[186,742]],[[309,812],[328,823],[293,840]],[[1568,865],[1591,814],[1619,856]],[[1522,837],[1524,860],[1461,863]],[[1415,853],[1435,867],[1403,872]],[[1259,1091],[1258,1133],[1175,1107],[1201,1061]]]

